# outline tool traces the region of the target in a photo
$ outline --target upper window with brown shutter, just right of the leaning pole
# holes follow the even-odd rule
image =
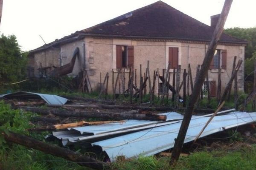
[[[227,50],[216,50],[212,58],[210,69],[227,68]]]

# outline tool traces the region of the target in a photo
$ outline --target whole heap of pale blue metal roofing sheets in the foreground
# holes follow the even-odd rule
[[[234,110],[222,111],[225,115],[215,116],[202,133],[208,136],[232,127],[255,122],[256,112],[246,113]],[[183,116],[179,113],[161,113],[167,121],[125,120],[122,123],[72,127],[65,131],[53,132],[64,145],[79,142],[84,147],[100,147],[111,161],[118,156],[126,158],[151,156],[174,146]],[[209,120],[209,116],[192,116],[185,143],[193,141]],[[97,146],[97,147],[94,147]]]

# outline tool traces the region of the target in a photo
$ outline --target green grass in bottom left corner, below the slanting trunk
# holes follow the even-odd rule
[[[7,150],[0,150],[0,170],[90,170],[90,168],[13,144]]]

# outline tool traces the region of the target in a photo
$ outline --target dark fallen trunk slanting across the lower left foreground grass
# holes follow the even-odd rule
[[[40,150],[44,153],[76,162],[77,164],[84,167],[91,167],[97,170],[108,169],[108,164],[105,162],[92,159],[90,157],[82,155],[81,153],[76,153],[76,152],[73,152],[72,150],[68,150],[53,144],[41,142],[29,136],[20,135],[18,133],[13,133],[13,132],[10,132],[9,135],[7,135],[6,133],[3,133],[3,136],[7,142],[12,142],[12,143],[20,144],[36,150]]]

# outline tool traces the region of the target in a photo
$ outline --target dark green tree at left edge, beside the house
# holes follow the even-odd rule
[[[23,53],[15,35],[0,36],[0,82],[15,82],[26,75],[27,53]]]

